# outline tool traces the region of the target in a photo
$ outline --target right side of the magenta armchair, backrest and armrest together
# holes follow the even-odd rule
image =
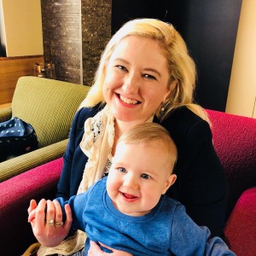
[[[224,235],[237,256],[256,255],[256,119],[207,111],[230,186]]]

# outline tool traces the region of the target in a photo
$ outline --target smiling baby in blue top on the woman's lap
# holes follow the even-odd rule
[[[57,199],[73,227],[86,232],[85,255],[90,240],[133,255],[235,255],[165,195],[177,178],[172,173],[176,160],[177,148],[165,128],[136,125],[119,138],[107,177],[69,201]],[[35,210],[29,221],[34,218]],[[56,237],[64,227],[54,220],[45,224],[52,225]]]

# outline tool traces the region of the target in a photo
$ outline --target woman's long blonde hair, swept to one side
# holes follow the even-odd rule
[[[102,87],[106,77],[108,60],[120,40],[128,36],[140,36],[159,42],[163,55],[166,57],[171,93],[166,97],[166,101],[163,102],[165,111],[161,114],[160,108],[156,111],[160,121],[165,119],[173,109],[183,106],[191,109],[202,119],[209,121],[203,108],[194,103],[195,62],[190,57],[183,38],[171,24],[156,19],[130,20],[113,35],[102,53],[94,83],[81,107],[90,108],[99,102],[104,102]]]

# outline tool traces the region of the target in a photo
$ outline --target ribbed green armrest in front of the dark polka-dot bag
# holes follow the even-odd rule
[[[0,163],[0,182],[36,166],[41,166],[51,160],[60,158],[67,148],[67,142],[68,139],[3,161]]]

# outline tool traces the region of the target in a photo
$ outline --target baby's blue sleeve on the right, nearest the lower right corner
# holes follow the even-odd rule
[[[236,255],[221,238],[211,237],[207,227],[195,224],[182,205],[177,205],[172,222],[170,250],[175,255]]]

